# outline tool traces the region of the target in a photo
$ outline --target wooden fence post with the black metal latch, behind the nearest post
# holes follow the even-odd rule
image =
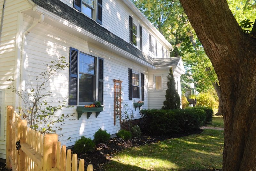
[[[26,137],[24,132],[26,126],[27,126],[27,120],[18,120],[18,139],[17,140],[20,140],[20,143],[26,142]],[[26,155],[20,149],[19,165],[17,166],[18,168],[20,168],[19,170],[25,170],[25,159],[26,159]]]

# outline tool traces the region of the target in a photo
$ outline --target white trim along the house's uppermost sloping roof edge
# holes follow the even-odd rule
[[[132,3],[131,0],[122,0],[124,4],[126,4],[137,16],[139,16],[142,21],[155,33],[169,48],[173,51],[173,47],[171,43],[169,43],[164,36],[154,27],[151,22],[140,12],[140,10]]]

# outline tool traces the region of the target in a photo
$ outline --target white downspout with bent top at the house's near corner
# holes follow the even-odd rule
[[[20,90],[21,90],[21,81],[22,81],[22,72],[23,72],[23,49],[24,49],[24,43],[25,43],[25,40],[26,40],[26,35],[28,35],[37,25],[41,24],[42,22],[44,22],[44,14],[40,14],[40,19],[32,24],[32,26],[30,26],[22,35],[22,43],[21,43],[21,57],[20,57]],[[19,104],[21,106],[21,97],[20,97],[20,100],[19,100]]]

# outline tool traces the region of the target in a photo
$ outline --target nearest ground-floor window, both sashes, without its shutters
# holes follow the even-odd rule
[[[96,71],[95,57],[80,52],[79,54],[79,104],[95,101]]]

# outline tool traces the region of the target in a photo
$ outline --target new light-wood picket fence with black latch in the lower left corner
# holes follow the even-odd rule
[[[14,171],[84,171],[84,159],[66,151],[57,134],[41,134],[28,128],[27,121],[7,106],[6,168]],[[20,149],[17,150],[17,142]],[[19,146],[19,144],[18,144]],[[72,158],[71,158],[72,156]],[[77,167],[77,165],[79,167]],[[87,171],[93,171],[88,165]]]

